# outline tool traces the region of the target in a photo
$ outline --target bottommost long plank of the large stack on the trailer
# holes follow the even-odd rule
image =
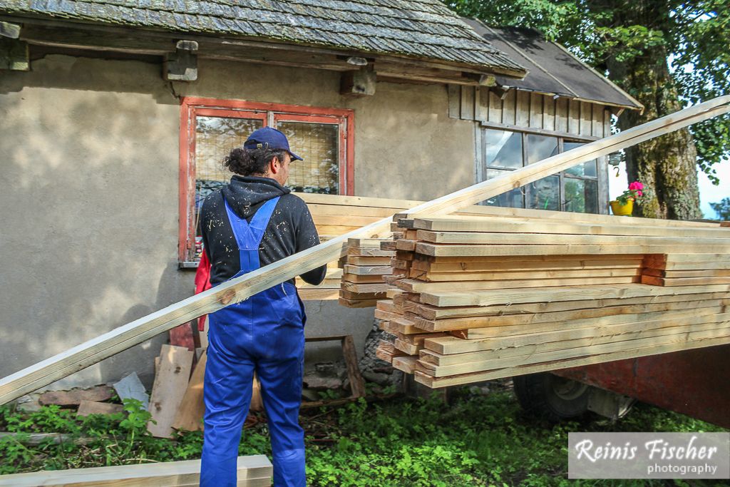
[[[548,363],[522,365],[517,367],[505,367],[502,369],[494,369],[486,372],[474,372],[469,374],[443,377],[442,379],[434,379],[434,377],[429,377],[429,375],[426,375],[416,370],[415,380],[416,382],[423,383],[431,388],[459,386],[461,384],[475,383],[483,380],[499,379],[502,377],[512,377],[515,375],[534,374],[537,372],[550,372],[552,370],[565,369],[568,367],[580,367],[590,364],[602,364],[604,362],[621,360],[623,358],[651,356],[661,353],[672,353],[679,350],[691,350],[694,348],[712,347],[714,345],[723,345],[728,342],[730,342],[729,337],[691,340],[687,342],[635,348],[633,350],[622,350],[615,353],[604,353],[600,355],[571,358]]]

